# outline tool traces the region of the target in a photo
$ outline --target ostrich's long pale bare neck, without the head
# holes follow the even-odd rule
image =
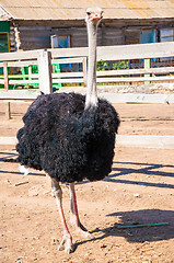
[[[85,108],[90,106],[97,106],[96,30],[97,30],[97,25],[91,22],[88,22],[89,65],[88,65],[88,91],[85,96]]]

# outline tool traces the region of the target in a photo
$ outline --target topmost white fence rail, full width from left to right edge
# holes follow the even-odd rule
[[[107,52],[106,52],[107,48]],[[51,53],[51,57],[88,57],[88,47],[74,48],[54,48],[47,49]],[[36,59],[43,49],[3,53],[0,54],[0,61],[13,61],[23,59]],[[135,44],[123,46],[98,46],[97,60],[126,60],[126,59],[143,59],[160,58],[174,56],[174,42]]]

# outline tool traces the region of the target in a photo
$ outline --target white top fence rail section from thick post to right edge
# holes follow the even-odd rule
[[[53,57],[88,57],[88,47],[48,49]],[[98,46],[97,60],[127,60],[174,56],[174,42]]]

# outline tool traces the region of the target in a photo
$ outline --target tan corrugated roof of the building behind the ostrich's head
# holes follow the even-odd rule
[[[83,20],[94,1],[1,0],[0,5],[14,20]],[[95,0],[95,5],[104,10],[104,19],[174,18],[174,0]]]

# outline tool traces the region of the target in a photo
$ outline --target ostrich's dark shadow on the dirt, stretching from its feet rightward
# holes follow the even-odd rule
[[[119,217],[119,224],[113,224],[111,227],[101,229],[100,227],[94,229],[91,233],[94,236],[97,232],[100,237],[83,240],[77,243],[83,244],[85,242],[104,240],[107,237],[124,237],[128,242],[154,242],[160,240],[170,240],[174,238],[174,211],[173,210],[160,210],[160,209],[142,209],[132,211],[116,211],[107,216]],[[118,226],[131,226],[135,224],[155,224],[155,222],[169,222],[165,226],[156,227],[141,227],[141,228],[126,228],[120,229]]]

